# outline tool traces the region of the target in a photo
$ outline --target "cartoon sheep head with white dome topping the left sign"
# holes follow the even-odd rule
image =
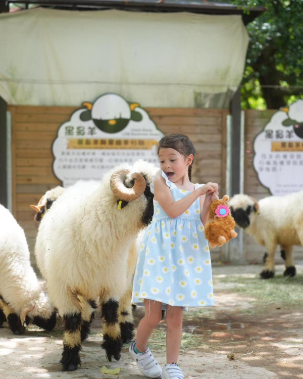
[[[92,119],[96,127],[106,133],[117,133],[123,130],[130,120],[140,122],[142,115],[135,109],[139,104],[129,104],[115,93],[100,96],[94,103],[85,102],[87,110],[80,114],[80,120]]]

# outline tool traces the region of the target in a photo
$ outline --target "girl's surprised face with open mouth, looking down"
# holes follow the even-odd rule
[[[177,182],[185,175],[188,175],[188,166],[191,164],[192,159],[192,154],[184,157],[175,149],[162,148],[159,150],[160,168],[172,182]]]

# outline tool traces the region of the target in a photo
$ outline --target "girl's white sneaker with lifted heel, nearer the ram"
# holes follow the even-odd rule
[[[147,349],[144,351],[144,353],[136,353],[134,351],[135,344],[136,341],[133,341],[129,347],[129,352],[130,355],[135,359],[142,374],[147,377],[153,378],[161,377],[161,367],[154,358],[153,354],[151,354],[149,347],[147,346]]]

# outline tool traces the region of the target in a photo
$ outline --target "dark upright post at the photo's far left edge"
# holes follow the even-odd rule
[[[7,103],[0,97],[0,204],[8,206]]]

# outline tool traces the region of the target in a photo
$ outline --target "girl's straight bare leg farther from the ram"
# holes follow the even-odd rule
[[[168,307],[166,311],[166,360],[167,363],[177,363],[182,339],[182,307]]]

